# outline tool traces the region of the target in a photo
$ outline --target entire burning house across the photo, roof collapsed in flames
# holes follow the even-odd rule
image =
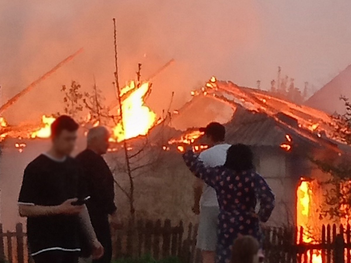
[[[112,146],[106,156],[118,177],[125,174],[124,147],[130,157],[136,158],[133,164],[137,166],[132,168],[133,173],[137,173],[132,177],[136,180],[133,182],[133,191],[136,189],[133,209],[144,211],[138,216],[159,219],[163,215],[174,220],[185,217],[194,220],[190,210],[193,177],[183,164],[181,153],[185,144],[191,144],[195,151],[208,148],[201,142],[198,127],[218,121],[226,126],[228,143],[252,147],[257,170],[276,194],[276,209],[269,223],[302,226],[309,229],[303,242],[315,241],[314,236],[318,236],[315,233],[323,223],[330,221],[329,218],[320,219],[321,211],[327,209],[322,208],[323,193],[330,190],[321,182],[328,181],[330,175],[323,173],[312,160],[328,159],[338,163],[348,160],[350,153],[349,147],[333,139],[331,116],[268,92],[239,87],[212,77],[204,87],[191,92],[192,100],[184,107],[158,118],[145,105],[149,92],[147,82],[141,85],[131,82],[121,90],[124,118],[110,127]],[[10,127],[2,120],[1,222],[8,228],[20,220],[14,208],[22,171],[47,147],[53,120],[53,117],[43,116],[40,128]],[[120,121],[123,121],[124,129]],[[77,151],[84,147],[85,127],[81,129]],[[118,181],[118,200],[130,198],[129,179]],[[333,222],[348,223],[348,220],[348,217],[334,218]],[[318,257],[318,252],[314,257]]]

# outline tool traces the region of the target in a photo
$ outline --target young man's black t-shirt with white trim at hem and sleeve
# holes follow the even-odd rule
[[[85,198],[82,170],[71,157],[56,161],[41,154],[24,171],[19,204],[52,206],[70,198]],[[27,218],[32,255],[50,250],[80,251],[77,215]]]

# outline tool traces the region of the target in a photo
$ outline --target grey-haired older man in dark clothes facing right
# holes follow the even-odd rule
[[[96,263],[110,263],[112,258],[112,241],[110,222],[117,228],[120,227],[120,219],[114,204],[114,179],[110,168],[101,156],[106,154],[110,134],[105,127],[98,126],[90,129],[87,135],[87,149],[77,155],[85,172],[88,193],[91,196],[87,201],[87,207],[93,228],[98,240],[105,248],[105,254],[100,259],[93,260]],[[88,251],[88,248],[87,248]],[[89,256],[89,251],[83,251],[82,257]],[[81,262],[89,262],[89,259]]]

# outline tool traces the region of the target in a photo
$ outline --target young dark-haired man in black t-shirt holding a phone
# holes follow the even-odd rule
[[[80,229],[90,241],[93,257],[104,253],[81,202],[88,198],[84,174],[69,157],[78,127],[71,117],[58,117],[51,126],[52,148],[29,163],[24,172],[19,213],[27,217],[28,243],[35,263],[78,262]]]

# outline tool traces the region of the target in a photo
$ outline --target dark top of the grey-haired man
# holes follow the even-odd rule
[[[116,211],[114,204],[114,180],[110,168],[101,155],[86,149],[77,155],[76,160],[85,173],[89,214],[94,225],[95,219]]]

